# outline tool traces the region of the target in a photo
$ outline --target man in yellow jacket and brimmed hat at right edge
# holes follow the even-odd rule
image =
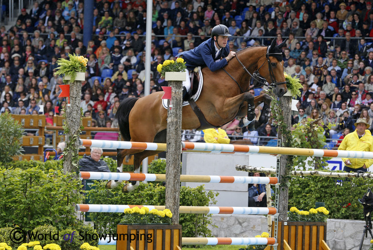
[[[355,123],[356,130],[352,133],[347,134],[338,150],[352,150],[352,151],[373,151],[373,137],[371,132],[368,130],[369,123],[364,118],[358,118]],[[344,162],[343,171],[345,172],[357,172],[358,170],[367,172],[373,160],[372,159],[349,159],[342,158]]]

